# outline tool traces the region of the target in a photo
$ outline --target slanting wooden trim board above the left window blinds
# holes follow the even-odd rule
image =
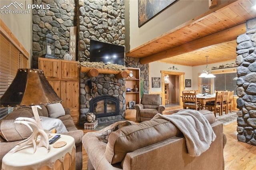
[[[27,59],[29,59],[29,53],[18,41],[18,39],[12,34],[10,29],[0,19],[0,33],[3,34]]]

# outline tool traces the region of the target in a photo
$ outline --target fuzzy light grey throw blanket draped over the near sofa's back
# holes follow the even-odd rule
[[[198,111],[183,109],[172,115],[158,113],[152,119],[156,118],[172,122],[183,133],[190,156],[200,156],[216,138],[210,123]]]

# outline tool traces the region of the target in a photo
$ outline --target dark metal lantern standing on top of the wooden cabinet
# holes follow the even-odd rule
[[[55,39],[50,33],[50,30],[47,30],[46,36],[43,38],[43,56],[55,59]]]

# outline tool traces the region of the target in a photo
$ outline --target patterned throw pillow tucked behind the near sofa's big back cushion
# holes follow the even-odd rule
[[[114,127],[113,127],[113,125],[114,125]],[[108,143],[108,136],[111,132],[114,132],[114,131],[116,131],[124,126],[128,126],[128,125],[132,125],[132,123],[130,123],[129,121],[119,121],[119,122],[116,122],[116,123],[108,126],[109,128],[107,127],[108,129],[102,133],[94,133],[94,136],[96,136],[96,138],[98,138],[100,141]],[[110,128],[110,127],[113,127],[113,128]]]

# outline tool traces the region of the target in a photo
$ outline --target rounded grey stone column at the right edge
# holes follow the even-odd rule
[[[246,22],[246,33],[237,43],[237,138],[256,145],[256,19]]]

